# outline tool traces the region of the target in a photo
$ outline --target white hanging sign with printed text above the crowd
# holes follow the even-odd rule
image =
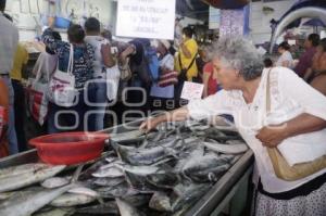
[[[118,0],[116,35],[173,39],[176,0]]]

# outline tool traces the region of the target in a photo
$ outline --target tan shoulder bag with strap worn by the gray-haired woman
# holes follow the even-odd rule
[[[269,69],[267,74],[266,113],[271,112],[271,71],[272,69]],[[312,162],[300,163],[290,166],[277,148],[267,148],[267,152],[276,176],[283,180],[294,181],[326,168],[326,155],[321,156]]]

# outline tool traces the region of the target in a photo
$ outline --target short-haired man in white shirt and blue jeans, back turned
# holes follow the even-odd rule
[[[85,41],[92,46],[95,50],[93,79],[89,82],[89,102],[97,113],[90,115],[88,125],[90,131],[102,130],[104,128],[105,109],[108,107],[106,93],[106,68],[115,65],[115,60],[111,53],[110,41],[101,36],[101,25],[99,20],[89,17],[85,22]],[[118,86],[114,80],[108,80],[108,85]],[[113,84],[114,82],[114,84]],[[116,88],[117,89],[117,88]],[[89,104],[90,105],[90,104]]]

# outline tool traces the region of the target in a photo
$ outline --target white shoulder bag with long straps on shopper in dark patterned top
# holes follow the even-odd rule
[[[67,72],[60,71],[58,63],[57,71],[49,84],[49,100],[59,106],[71,107],[77,103],[76,99],[78,91],[75,89],[75,76],[73,75],[73,68],[74,48],[73,45],[71,45]]]

